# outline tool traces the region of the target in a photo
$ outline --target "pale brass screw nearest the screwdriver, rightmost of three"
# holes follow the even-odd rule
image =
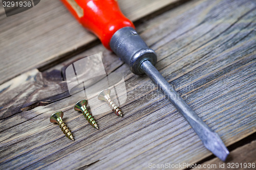
[[[122,117],[122,110],[119,107],[117,107],[113,100],[110,98],[110,92],[111,91],[108,88],[100,91],[98,94],[98,100],[107,102],[110,108],[116,113],[116,115]]]

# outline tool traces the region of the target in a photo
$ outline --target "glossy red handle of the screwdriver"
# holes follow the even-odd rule
[[[135,28],[119,9],[117,0],[60,0],[81,25],[93,32],[111,50],[110,40],[123,27]]]

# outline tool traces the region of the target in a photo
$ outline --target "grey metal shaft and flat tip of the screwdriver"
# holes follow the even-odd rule
[[[162,90],[165,97],[183,115],[190,126],[202,140],[204,146],[219,157],[222,161],[226,160],[229,151],[225,147],[217,133],[212,131],[203,120],[186,104],[175,89],[163,78],[155,66],[148,60],[141,64],[141,69],[145,74]]]

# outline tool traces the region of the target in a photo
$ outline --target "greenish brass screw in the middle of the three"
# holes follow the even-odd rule
[[[92,113],[90,113],[88,111],[87,107],[87,100],[80,100],[76,103],[74,109],[75,111],[80,111],[82,112],[82,114],[84,115],[84,117],[86,117],[86,119],[88,120],[89,124],[92,125],[94,128],[99,129],[98,125],[96,123],[95,118],[93,117]]]

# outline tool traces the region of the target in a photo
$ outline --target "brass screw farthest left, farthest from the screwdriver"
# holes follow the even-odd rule
[[[57,111],[53,113],[50,117],[50,122],[57,123],[59,125],[59,128],[61,128],[61,131],[71,140],[74,141],[73,135],[67,125],[62,120],[63,112]]]

